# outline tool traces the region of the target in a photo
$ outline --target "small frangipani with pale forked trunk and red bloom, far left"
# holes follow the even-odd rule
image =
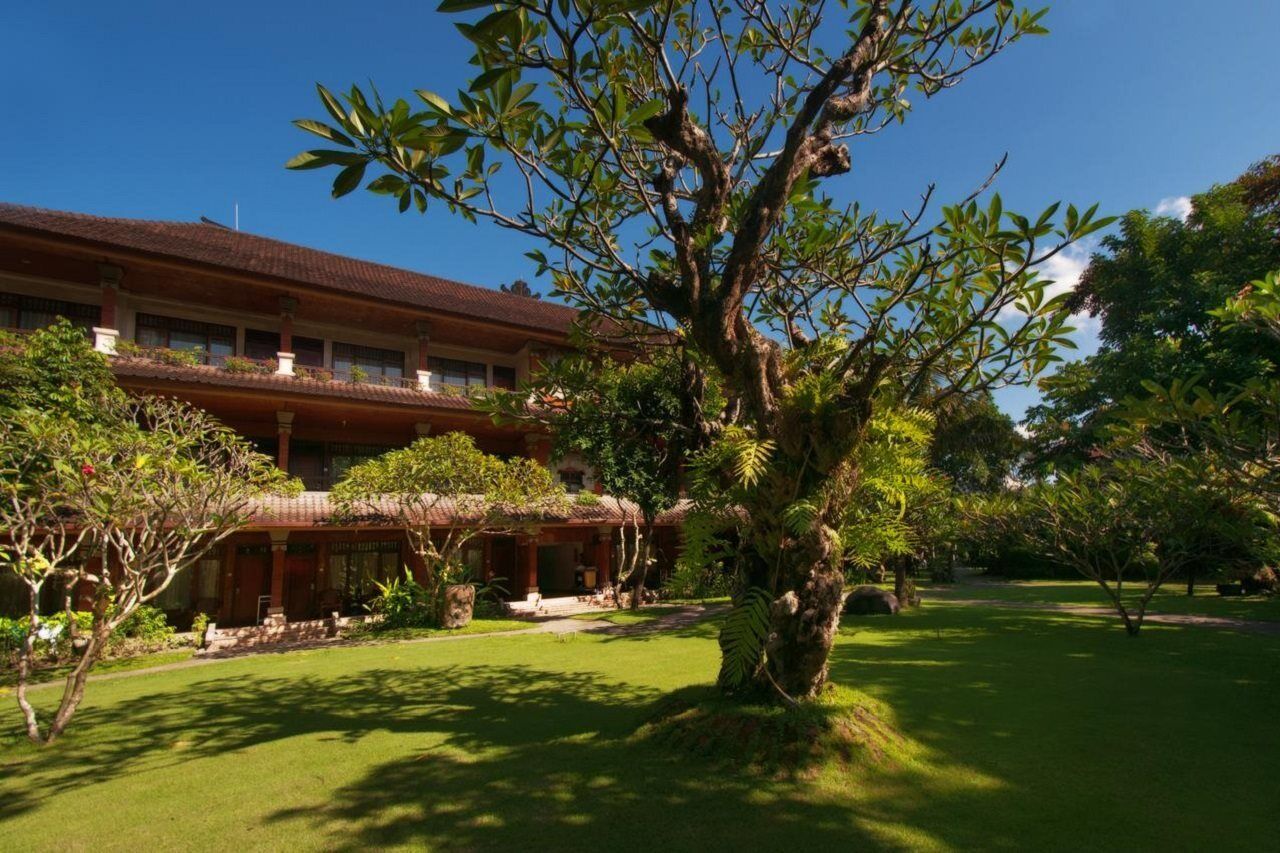
[[[64,549],[60,543],[76,537],[76,560],[68,560],[65,551],[60,560],[65,605],[70,611],[74,597],[91,599],[88,637],[44,731],[24,699],[33,662],[29,637],[26,661],[19,663],[27,735],[52,743],[83,699],[90,670],[111,633],[164,593],[179,573],[242,529],[259,497],[287,491],[289,482],[271,460],[210,415],[172,400],[122,402],[115,418],[96,425],[65,420],[52,425],[35,416],[22,416],[17,424],[26,429],[0,433],[5,442],[0,453],[6,460],[35,457],[37,467],[42,459],[55,464],[27,483],[20,479],[22,467],[5,466],[3,488],[10,506],[20,508],[4,517],[4,534],[10,543],[47,542],[46,552]],[[23,507],[24,501],[31,505]],[[14,552],[9,561],[27,580],[32,630],[40,593],[31,569],[37,558],[33,547],[41,546],[23,544],[26,553]]]

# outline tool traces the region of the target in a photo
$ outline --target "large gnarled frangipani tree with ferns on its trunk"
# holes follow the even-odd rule
[[[841,599],[841,494],[877,401],[1025,379],[1065,342],[1037,265],[1106,223],[945,206],[901,215],[828,193],[855,146],[955,86],[1043,12],[1006,0],[445,0],[476,72],[390,104],[320,87],[330,145],[291,168],[536,240],[529,252],[598,333],[673,339],[723,378],[746,489],[749,588],[772,605],[756,681],[814,694]],[[644,325],[639,325],[644,321]],[[658,327],[663,336],[645,336]],[[696,384],[696,383],[694,383]],[[723,424],[712,424],[709,430]],[[732,475],[736,466],[726,471]],[[797,501],[817,502],[797,532]],[[768,671],[764,671],[768,667]]]

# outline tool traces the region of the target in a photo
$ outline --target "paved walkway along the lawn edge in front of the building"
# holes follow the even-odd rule
[[[666,612],[660,616],[645,622],[636,622],[634,625],[616,625],[611,621],[603,619],[572,619],[572,617],[550,617],[535,622],[530,628],[521,628],[513,631],[485,631],[477,634],[440,634],[438,637],[417,637],[413,639],[401,639],[401,640],[351,640],[342,637],[335,637],[333,639],[321,640],[307,640],[302,643],[275,643],[271,646],[256,646],[251,649],[243,652],[223,652],[200,657],[192,657],[187,661],[177,661],[174,663],[161,663],[160,666],[148,666],[138,670],[125,670],[123,672],[104,672],[101,675],[90,675],[88,680],[91,683],[97,681],[114,681],[115,679],[127,679],[134,675],[154,675],[156,672],[169,672],[170,670],[189,670],[197,666],[214,666],[215,663],[225,663],[227,661],[237,661],[246,657],[253,657],[257,654],[284,654],[288,652],[300,652],[314,648],[353,648],[358,646],[398,646],[398,644],[412,644],[412,643],[457,643],[470,639],[481,639],[484,637],[521,637],[526,634],[607,634],[609,637],[630,637],[636,634],[653,634],[657,631],[666,631],[673,629],[687,628],[701,620],[712,616],[724,608],[723,605],[687,605],[681,606],[675,612]],[[59,686],[65,683],[65,679],[55,679],[52,681],[42,681],[40,684],[32,684],[28,688],[31,690],[44,690],[51,686]],[[9,692],[13,688],[3,688],[0,693]]]

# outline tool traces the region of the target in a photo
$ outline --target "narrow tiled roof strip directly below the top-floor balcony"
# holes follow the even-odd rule
[[[403,386],[374,383],[333,382],[284,377],[275,373],[232,373],[211,365],[161,364],[150,359],[111,359],[111,370],[118,377],[131,379],[160,379],[166,382],[196,383],[232,388],[260,388],[298,394],[344,397],[374,402],[429,406],[431,409],[471,409],[471,400],[457,394],[440,394]]]

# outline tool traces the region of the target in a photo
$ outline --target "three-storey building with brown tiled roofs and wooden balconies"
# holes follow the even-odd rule
[[[472,405],[477,389],[513,389],[568,346],[567,306],[211,222],[0,204],[0,325],[59,316],[84,329],[122,387],[207,410],[305,484],[173,583],[160,605],[179,626],[200,612],[223,626],[366,612],[374,581],[411,553],[402,530],[340,520],[328,492],[353,464],[448,432],[596,496],[518,535],[472,540],[477,580],[502,579],[527,603],[586,594],[616,574],[635,508],[600,494],[581,460],[552,459],[549,435],[495,425]],[[658,571],[676,549],[675,517],[662,521]]]

